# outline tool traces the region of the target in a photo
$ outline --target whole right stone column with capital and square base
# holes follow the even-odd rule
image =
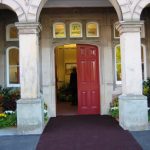
[[[120,32],[122,57],[122,95],[119,97],[119,123],[124,129],[148,127],[147,98],[142,95],[141,27],[142,21],[116,23]]]

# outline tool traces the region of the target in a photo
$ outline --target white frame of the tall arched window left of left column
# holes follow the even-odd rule
[[[11,49],[17,49],[18,52],[19,52],[19,48],[16,47],[16,46],[11,46],[11,47],[8,47],[6,49],[6,77],[7,77],[7,87],[20,87],[20,83],[19,84],[12,84],[10,83],[10,78],[9,78],[9,52]],[[20,64],[18,65],[19,68],[20,68]]]

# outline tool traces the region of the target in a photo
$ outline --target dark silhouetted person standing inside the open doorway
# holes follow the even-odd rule
[[[72,105],[77,105],[77,71],[76,67],[72,69],[70,74],[70,91],[72,95]]]

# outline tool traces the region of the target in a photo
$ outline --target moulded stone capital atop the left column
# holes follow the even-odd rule
[[[15,26],[18,28],[18,34],[39,34],[42,30],[42,26],[38,22],[16,22]]]

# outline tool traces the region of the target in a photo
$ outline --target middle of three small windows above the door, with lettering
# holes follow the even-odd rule
[[[80,22],[70,23],[70,37],[71,38],[82,37],[82,24]]]

